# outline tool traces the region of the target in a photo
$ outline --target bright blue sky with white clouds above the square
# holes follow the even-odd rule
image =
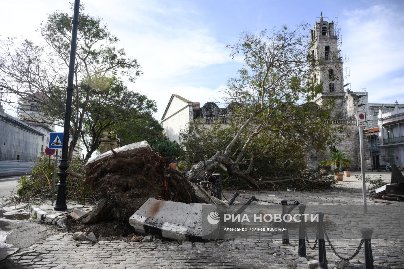
[[[352,90],[366,88],[371,103],[404,103],[404,1],[107,1],[82,0],[103,18],[119,47],[144,74],[128,88],[156,100],[160,119],[171,94],[191,101],[220,100],[242,59],[228,57],[227,43],[242,31],[301,22],[320,11],[338,17]],[[0,34],[42,42],[35,32],[46,14],[67,11],[69,1],[8,1],[0,10]]]

